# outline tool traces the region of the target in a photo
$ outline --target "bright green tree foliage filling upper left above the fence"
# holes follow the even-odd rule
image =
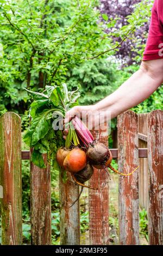
[[[70,80],[72,88],[80,76],[84,83],[81,104],[94,103],[115,90],[116,87],[110,86],[114,64],[87,60],[97,55],[102,57],[104,52],[103,57],[113,55],[115,50],[111,49],[117,47],[117,51],[120,43],[115,40],[113,43],[112,38],[131,37],[130,32],[149,19],[151,5],[148,1],[136,5],[128,17],[128,25],[118,29],[115,28],[118,17],[108,21],[103,14],[105,23],[99,21],[98,5],[97,0],[80,0],[79,4],[71,0],[1,1],[0,114],[7,110],[23,114],[28,109],[30,96],[23,87],[42,91],[46,85]],[[104,29],[108,27],[112,29],[106,34]],[[86,68],[89,69],[82,78],[82,69]],[[92,89],[93,82],[96,88]],[[87,88],[87,84],[91,86]]]

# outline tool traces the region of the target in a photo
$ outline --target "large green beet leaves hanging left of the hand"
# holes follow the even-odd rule
[[[77,99],[80,96],[78,89],[70,92],[67,90],[66,84],[63,83],[61,86],[46,86],[45,94],[27,90],[33,95],[34,102],[30,105],[29,113],[32,120],[23,136],[23,141],[30,148],[34,148],[31,160],[36,166],[46,168],[42,157],[43,153],[47,153],[48,161],[50,162],[52,159],[54,164],[57,148],[65,146],[58,123],[63,121],[65,112],[69,108],[78,104]],[[58,124],[57,129],[55,129],[56,124]],[[73,131],[73,133],[76,132]],[[70,132],[68,136],[70,136]],[[75,136],[68,139],[70,145],[71,141],[76,145],[74,138]]]

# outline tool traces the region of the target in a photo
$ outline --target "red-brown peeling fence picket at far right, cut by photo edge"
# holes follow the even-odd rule
[[[148,114],[149,244],[163,245],[163,111]]]

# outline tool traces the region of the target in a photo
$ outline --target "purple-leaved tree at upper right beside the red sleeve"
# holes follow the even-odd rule
[[[146,44],[153,1],[101,0],[101,3],[99,9],[106,25],[106,32],[111,34],[115,28],[117,29],[117,35],[113,36],[114,41],[122,40],[121,33],[118,33],[120,27],[128,28],[130,31],[130,25],[135,24],[135,31],[123,41],[120,49],[115,52],[115,56],[127,66],[135,61],[139,63]],[[110,26],[110,23],[114,26]]]

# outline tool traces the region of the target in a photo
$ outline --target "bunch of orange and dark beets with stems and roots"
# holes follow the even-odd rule
[[[128,176],[112,168],[112,155],[108,147],[101,142],[94,140],[89,129],[75,116],[71,123],[75,130],[69,130],[66,138],[66,145],[70,147],[60,148],[57,151],[57,162],[62,169],[71,172],[74,181],[81,186],[85,186],[93,174],[93,167],[104,169],[108,172],[108,167],[118,174]],[[73,141],[73,142],[72,142]],[[74,144],[74,142],[76,142]],[[92,167],[93,166],[93,167]],[[108,173],[109,174],[109,173]]]

